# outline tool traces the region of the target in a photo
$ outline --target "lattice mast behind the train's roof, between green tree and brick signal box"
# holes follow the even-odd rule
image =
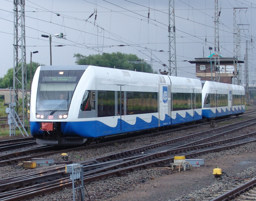
[[[176,67],[176,45],[175,45],[175,16],[174,16],[174,0],[169,0],[169,72],[175,72],[177,76]]]

